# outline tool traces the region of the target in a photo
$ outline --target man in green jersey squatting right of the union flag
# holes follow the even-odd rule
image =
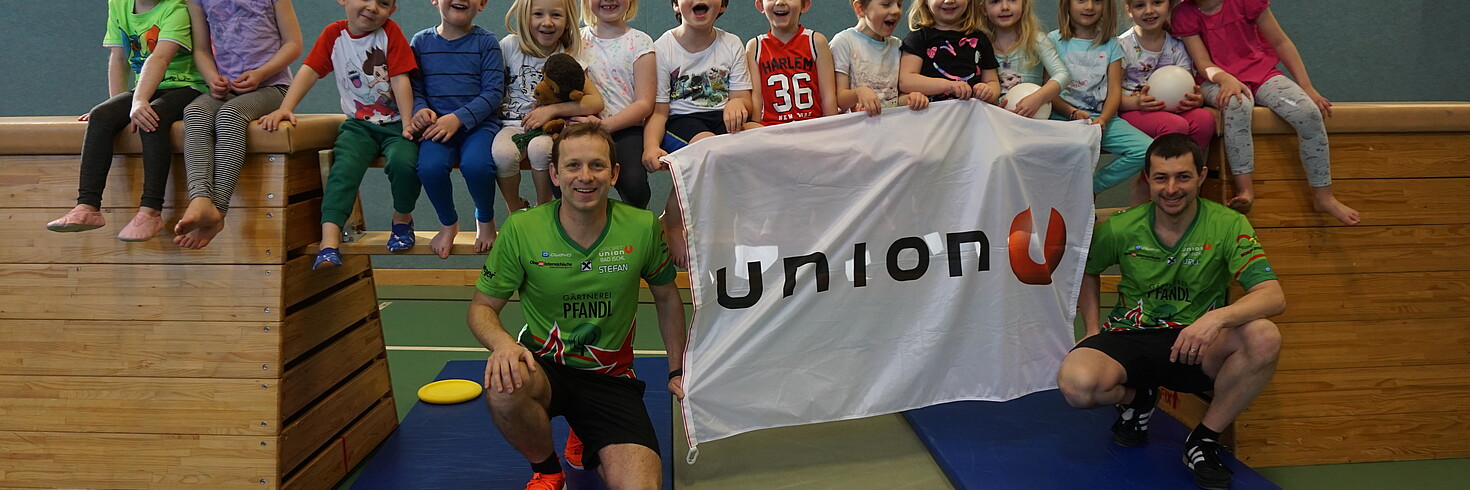
[[[1167,134],[1148,147],[1144,177],[1152,202],[1097,227],[1079,315],[1086,338],[1061,361],[1057,386],[1075,408],[1116,405],[1113,441],[1148,441],[1158,387],[1214,390],[1204,421],[1185,441],[1183,462],[1204,489],[1227,489],[1219,431],[1270,383],[1286,309],[1255,230],[1241,213],[1200,199],[1204,153]],[[1100,318],[1100,277],[1119,265],[1119,302]],[[1226,305],[1230,280],[1245,296]],[[1098,322],[1101,321],[1101,325]]]

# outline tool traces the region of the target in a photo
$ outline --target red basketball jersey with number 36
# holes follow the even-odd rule
[[[756,79],[766,107],[760,124],[773,125],[822,116],[822,90],[817,87],[817,50],[814,32],[803,28],[791,43],[781,43],[770,32],[756,40]]]

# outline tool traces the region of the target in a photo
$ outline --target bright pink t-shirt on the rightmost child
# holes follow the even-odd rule
[[[1280,57],[1255,28],[1255,19],[1270,7],[1269,0],[1225,0],[1220,12],[1205,15],[1192,0],[1175,7],[1169,19],[1177,38],[1198,35],[1210,59],[1255,93],[1267,79],[1282,75]]]

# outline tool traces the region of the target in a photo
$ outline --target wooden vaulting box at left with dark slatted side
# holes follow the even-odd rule
[[[313,272],[303,253],[341,121],[253,127],[225,231],[184,250],[116,240],[143,185],[131,134],[107,225],[44,230],[75,205],[85,124],[0,118],[0,487],[325,489],[397,427],[368,258]]]

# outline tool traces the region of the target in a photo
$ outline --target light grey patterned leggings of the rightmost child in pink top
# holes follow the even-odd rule
[[[1204,100],[1214,106],[1220,85],[1204,82],[1200,88],[1204,91]],[[1286,75],[1276,75],[1255,90],[1255,103],[1270,107],[1297,129],[1297,149],[1301,153],[1301,166],[1307,169],[1307,184],[1311,187],[1332,185],[1327,128],[1323,125],[1322,112],[1311,102],[1311,97],[1307,97],[1307,93]],[[1230,162],[1230,174],[1235,175],[1255,171],[1251,107],[1254,104],[1232,99],[1230,106],[1222,109],[1225,113],[1225,157]]]

